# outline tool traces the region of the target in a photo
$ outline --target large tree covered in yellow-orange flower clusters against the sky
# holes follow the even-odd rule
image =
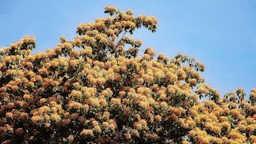
[[[221,98],[196,59],[138,53],[130,35],[156,18],[105,13],[45,53],[31,54],[33,37],[2,48],[0,142],[256,142],[256,90]]]

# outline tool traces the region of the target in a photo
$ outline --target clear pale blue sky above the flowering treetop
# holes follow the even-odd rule
[[[158,18],[156,33],[135,33],[142,47],[170,57],[181,52],[198,58],[206,64],[206,82],[221,94],[238,86],[249,94],[256,87],[255,1],[1,0],[0,46],[34,35],[35,51],[53,48],[61,35],[73,39],[80,23],[106,17],[107,5]]]

